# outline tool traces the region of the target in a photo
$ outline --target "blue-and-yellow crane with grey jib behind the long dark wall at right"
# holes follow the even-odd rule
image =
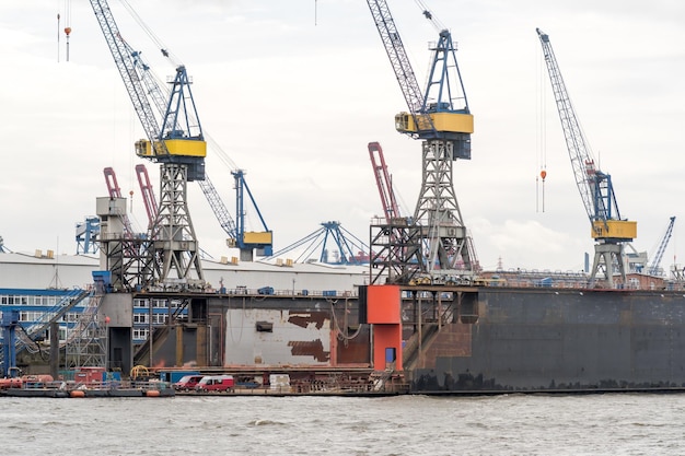
[[[625,244],[637,237],[637,222],[622,219],[612,177],[595,165],[561,78],[549,36],[539,28],[536,31],[549,72],[576,185],[590,220],[591,236],[596,241],[590,284],[593,285],[597,272],[603,271],[608,288],[613,288],[615,266],[618,267],[618,273],[625,284]]]

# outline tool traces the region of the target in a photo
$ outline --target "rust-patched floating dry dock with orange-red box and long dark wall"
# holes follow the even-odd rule
[[[290,372],[293,386],[361,369],[353,381],[374,382],[375,390],[396,375],[404,386],[393,381],[395,391],[436,394],[685,387],[683,291],[360,290],[336,297],[147,292],[113,299],[119,309],[127,308],[123,300],[128,307],[139,300],[187,303],[184,321],[155,331],[151,350],[148,343],[131,353],[135,363],[152,366],[244,370],[257,379]]]

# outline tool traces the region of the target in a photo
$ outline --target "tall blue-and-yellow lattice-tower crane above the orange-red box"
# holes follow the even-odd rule
[[[376,30],[409,109],[395,116],[395,128],[422,141],[421,190],[414,229],[422,248],[421,271],[471,274],[474,257],[453,183],[453,163],[471,160],[474,118],[468,108],[452,35],[439,28],[426,91],[421,91],[385,0],[367,0]],[[434,25],[428,10],[423,15]]]

